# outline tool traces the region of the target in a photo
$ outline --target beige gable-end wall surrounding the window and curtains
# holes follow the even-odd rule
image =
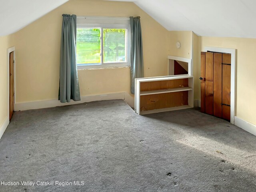
[[[16,32],[16,102],[58,98],[62,14],[140,16],[144,75],[167,75],[168,31],[132,2],[70,0]],[[81,96],[130,92],[130,69],[78,71]]]

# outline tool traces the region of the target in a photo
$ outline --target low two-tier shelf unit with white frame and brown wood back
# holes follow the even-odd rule
[[[135,79],[135,112],[139,115],[194,107],[194,77],[161,76]]]

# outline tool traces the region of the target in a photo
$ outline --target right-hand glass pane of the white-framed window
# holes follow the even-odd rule
[[[126,62],[126,29],[103,29],[104,63]]]

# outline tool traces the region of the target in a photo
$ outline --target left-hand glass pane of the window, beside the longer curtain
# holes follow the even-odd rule
[[[76,29],[76,60],[77,64],[100,63],[100,29]]]

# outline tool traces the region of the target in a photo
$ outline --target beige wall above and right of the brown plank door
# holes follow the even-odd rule
[[[256,39],[200,37],[205,46],[237,49],[236,116],[256,124]]]

